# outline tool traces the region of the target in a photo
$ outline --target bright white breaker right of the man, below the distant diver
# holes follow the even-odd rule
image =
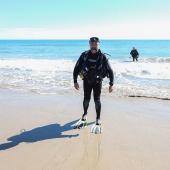
[[[111,65],[117,75],[170,80],[170,63],[115,62],[112,60]]]

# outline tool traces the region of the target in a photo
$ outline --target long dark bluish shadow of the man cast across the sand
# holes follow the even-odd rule
[[[12,147],[17,146],[21,142],[26,143],[33,143],[37,141],[43,141],[47,139],[54,139],[54,138],[72,138],[77,137],[79,134],[76,135],[63,135],[62,132],[66,132],[69,130],[72,130],[71,125],[76,123],[78,120],[69,122],[63,126],[60,124],[50,124],[42,127],[37,127],[35,129],[32,129],[30,131],[21,131],[21,134],[12,136],[8,138],[7,140],[10,141],[8,143],[4,143],[0,145],[0,150],[6,150],[10,149]],[[88,123],[88,125],[92,124]]]

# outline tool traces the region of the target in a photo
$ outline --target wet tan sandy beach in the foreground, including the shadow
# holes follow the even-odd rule
[[[83,96],[0,90],[1,170],[169,170],[170,102],[102,97],[103,133],[72,130]]]

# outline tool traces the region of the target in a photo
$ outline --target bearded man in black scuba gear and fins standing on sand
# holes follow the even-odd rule
[[[87,110],[91,99],[91,92],[93,90],[93,97],[96,109],[96,121],[92,126],[92,133],[101,133],[101,102],[100,94],[102,88],[102,80],[105,77],[110,79],[109,92],[113,91],[114,74],[111,65],[106,57],[106,53],[103,53],[99,49],[100,40],[97,37],[92,37],[89,40],[90,50],[85,51],[79,57],[73,71],[74,87],[79,90],[79,84],[77,83],[78,75],[83,80],[84,100],[83,108],[84,113],[82,118],[73,125],[75,129],[84,128],[87,125]]]

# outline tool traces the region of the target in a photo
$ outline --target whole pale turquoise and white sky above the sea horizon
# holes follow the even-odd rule
[[[0,39],[170,39],[170,0],[0,0]]]

